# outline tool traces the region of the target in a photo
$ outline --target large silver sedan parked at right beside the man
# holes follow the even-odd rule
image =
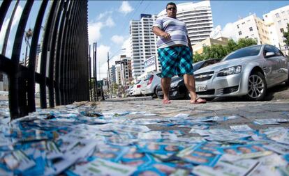
[[[289,81],[288,58],[272,45],[254,45],[233,51],[214,65],[195,71],[199,97],[246,96],[262,100],[267,88]]]

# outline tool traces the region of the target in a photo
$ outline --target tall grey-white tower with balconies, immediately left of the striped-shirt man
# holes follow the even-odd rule
[[[141,14],[130,22],[131,71],[133,79],[144,73],[144,60],[156,56],[156,36],[151,31],[156,15]]]

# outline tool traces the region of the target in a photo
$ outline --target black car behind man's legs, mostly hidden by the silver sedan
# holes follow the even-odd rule
[[[221,61],[219,58],[211,58],[206,61],[199,61],[197,63],[193,63],[193,70],[199,70],[202,67],[207,67],[208,65],[212,65],[214,63],[218,63]],[[156,93],[158,98],[163,99],[163,91],[161,90],[161,84],[156,88]],[[184,84],[183,77],[173,77],[170,83],[170,99],[190,99],[190,94],[188,93],[188,89]]]

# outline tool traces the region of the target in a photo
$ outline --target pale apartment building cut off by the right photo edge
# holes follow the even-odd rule
[[[288,54],[288,46],[283,42],[283,31],[287,31],[287,24],[289,23],[289,6],[272,10],[263,15],[263,18],[268,27],[271,45]]]

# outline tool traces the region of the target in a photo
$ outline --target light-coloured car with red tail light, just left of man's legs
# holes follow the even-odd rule
[[[161,72],[148,74],[144,81],[146,85],[142,88],[142,95],[156,96],[156,86],[161,83]]]

